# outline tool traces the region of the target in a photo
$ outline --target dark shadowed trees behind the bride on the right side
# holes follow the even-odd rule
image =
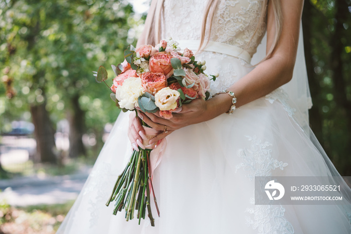
[[[314,102],[310,110],[311,128],[338,171],[350,176],[350,1],[306,1],[302,23]]]

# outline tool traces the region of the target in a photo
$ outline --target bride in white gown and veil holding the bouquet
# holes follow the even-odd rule
[[[171,37],[182,49],[201,48],[196,59],[220,75],[213,97],[183,105],[170,120],[138,113],[159,131],[149,143],[167,142],[153,172],[160,208],[154,227],[147,218],[126,222],[104,205],[130,148],[144,147],[132,112],[118,116],[57,233],[350,233],[348,188],[343,205],[255,205],[255,176],[340,177],[308,127],[304,58],[297,54],[302,5],[153,0],[138,45]],[[256,65],[251,58],[265,34],[265,56]]]

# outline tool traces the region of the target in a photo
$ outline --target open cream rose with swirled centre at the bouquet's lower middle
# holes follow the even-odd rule
[[[160,110],[175,109],[180,95],[177,90],[170,89],[169,87],[162,88],[155,94],[155,105]]]

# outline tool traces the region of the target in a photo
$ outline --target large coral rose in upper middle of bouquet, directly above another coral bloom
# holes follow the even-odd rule
[[[165,52],[155,53],[149,60],[149,70],[151,72],[161,72],[166,78],[173,74],[173,68],[170,64],[172,56]]]

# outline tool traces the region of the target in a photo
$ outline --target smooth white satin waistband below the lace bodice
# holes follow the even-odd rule
[[[200,40],[177,40],[177,42],[179,43],[179,46],[181,47],[182,50],[184,50],[185,48],[188,48],[190,50],[196,51],[199,49],[199,45],[200,45]],[[203,51],[226,54],[236,58],[243,59],[247,63],[251,62],[251,56],[249,52],[237,46],[224,44],[221,42],[210,41],[203,49]]]

